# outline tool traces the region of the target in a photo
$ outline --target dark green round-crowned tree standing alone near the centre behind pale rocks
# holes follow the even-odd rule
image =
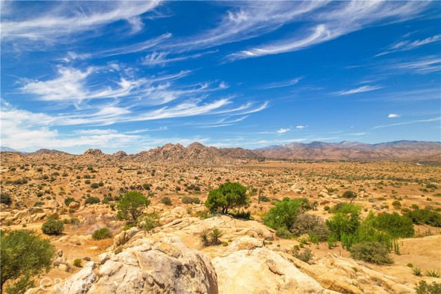
[[[247,196],[247,188],[238,182],[225,182],[218,189],[209,191],[205,206],[211,212],[222,209],[222,213],[228,213],[232,209],[240,207],[248,208],[250,204]]]

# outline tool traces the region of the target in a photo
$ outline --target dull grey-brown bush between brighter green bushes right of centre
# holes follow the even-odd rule
[[[316,235],[319,241],[326,241],[329,234],[322,218],[307,213],[299,214],[289,231],[294,235]]]

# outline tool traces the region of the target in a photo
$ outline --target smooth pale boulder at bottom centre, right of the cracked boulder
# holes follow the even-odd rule
[[[336,293],[320,286],[278,253],[250,240],[252,238],[241,238],[231,249],[243,250],[212,260],[218,275],[219,293]]]

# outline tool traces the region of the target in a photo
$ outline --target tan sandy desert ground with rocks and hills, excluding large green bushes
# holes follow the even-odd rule
[[[422,271],[441,271],[439,227],[415,225],[413,238],[399,240],[400,255],[391,253],[394,263],[380,266],[353,260],[340,244],[329,249],[327,242],[305,244],[314,258],[302,262],[293,256],[294,246],[300,244],[298,238],[279,238],[262,223],[263,216],[274,207],[273,200],[285,197],[306,198],[314,207],[308,213],[327,220],[331,216],[329,207],[349,201],[341,198],[347,190],[358,194],[353,204],[363,207],[362,218],[369,211],[402,213],[416,205],[440,211],[441,165],[427,160],[430,156],[424,157],[430,164],[283,161],[263,160],[261,154],[252,158],[245,149],[209,148],[214,147],[198,143],[187,149],[165,145],[130,156],[122,151],[107,155],[98,149],[81,156],[48,150],[34,154],[2,151],[1,193],[8,194],[12,203],[1,204],[1,228],[41,233],[41,225],[53,213],[65,220],[62,235],[44,235],[56,247],[57,258],[48,273],[36,277],[36,286],[43,284],[50,293],[84,293],[72,288],[57,292],[54,283],[65,283],[65,278],[70,282],[90,279],[96,292],[88,293],[138,293],[130,287],[136,285],[143,271],[157,273],[155,285],[156,280],[170,282],[167,262],[176,254],[188,261],[183,266],[192,272],[194,283],[206,284],[195,290],[198,293],[207,289],[213,293],[416,293],[415,286],[422,280],[440,282],[436,277],[414,275],[409,267],[412,264]],[[201,158],[203,165],[198,164]],[[204,202],[209,191],[228,181],[248,188],[251,220],[207,212]],[[122,231],[125,223],[116,218],[117,202],[113,198],[127,191],[147,196],[151,204],[145,212],[158,215],[157,227]],[[183,203],[185,196],[198,198],[200,204]],[[86,204],[90,197],[99,198],[101,203]],[[165,197],[170,198],[170,205],[163,204]],[[66,198],[74,201],[66,205]],[[114,238],[93,240],[92,233],[102,227],[110,229]],[[214,227],[223,231],[223,245],[203,246],[201,231]],[[158,260],[154,260],[155,254]],[[133,264],[133,258],[139,265]],[[74,266],[76,259],[81,259],[82,267]],[[201,276],[196,269],[205,259],[211,263],[205,264],[207,270]],[[163,264],[163,268],[154,268],[152,263]],[[130,271],[125,269],[128,264]],[[109,286],[112,283],[108,281],[113,279],[116,286]],[[185,286],[187,282],[182,283]],[[154,293],[171,291],[164,287],[155,288]],[[34,288],[30,293],[45,291]]]

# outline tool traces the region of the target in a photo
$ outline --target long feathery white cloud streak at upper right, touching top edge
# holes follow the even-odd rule
[[[325,2],[322,3],[325,5]],[[234,52],[227,60],[247,59],[271,54],[294,52],[324,43],[356,30],[382,23],[404,21],[420,14],[429,6],[422,2],[341,1],[308,11],[302,21],[308,24],[292,36]]]

